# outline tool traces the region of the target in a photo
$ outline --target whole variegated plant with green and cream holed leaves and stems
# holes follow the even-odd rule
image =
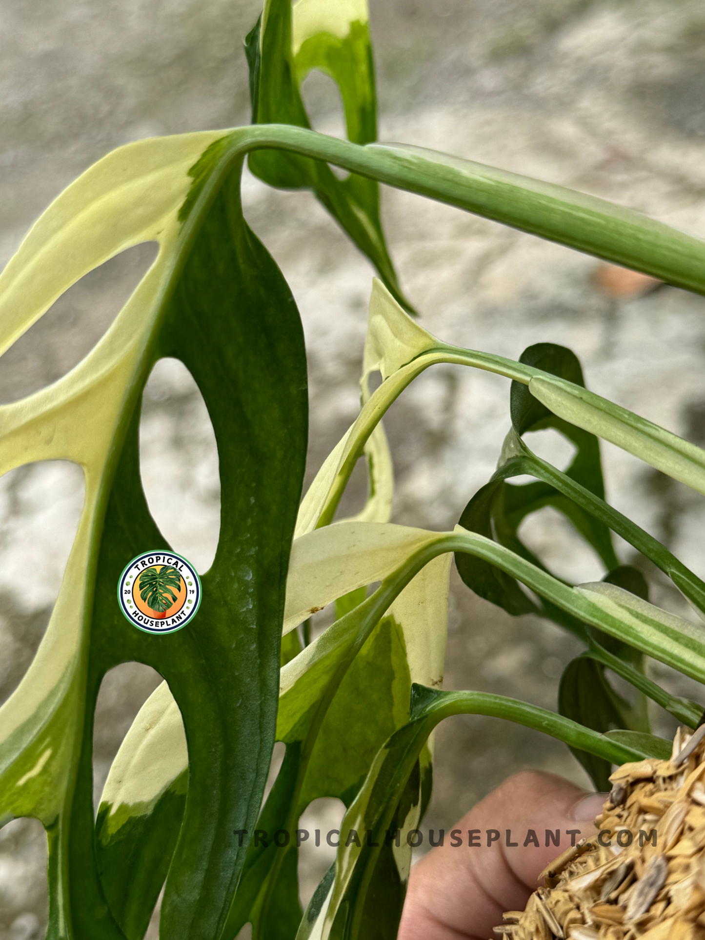
[[[644,721],[646,697],[691,726],[700,713],[650,681],[644,656],[703,682],[703,630],[636,596],[633,572],[613,569],[610,532],[700,611],[705,585],[606,504],[597,438],[698,493],[705,493],[705,454],[587,391],[569,351],[540,344],[515,362],[448,345],[411,320],[384,245],[379,182],[700,293],[705,243],[558,186],[372,143],[364,0],[300,0],[293,8],[268,0],[247,48],[251,127],[145,140],[109,154],[58,196],[0,275],[1,353],[84,274],[138,243],[159,246],[86,358],[55,384],[0,406],[0,473],[68,460],[86,479],[51,622],[0,710],[0,823],[32,816],[46,827],[52,940],[138,940],[163,885],[160,929],[168,940],[232,940],[247,922],[258,940],[362,940],[372,925],[391,938],[411,849],[379,837],[409,831],[422,817],[430,736],[444,717],[493,714],[544,730],[582,760],[602,761],[590,765],[598,778],[605,762],[661,753],[663,742]],[[348,140],[308,128],[300,86],[314,68],[340,88]],[[303,499],[304,337],[287,284],[243,219],[248,154],[261,179],[311,189],[386,285],[376,281],[372,292],[360,413]],[[138,447],[142,391],[164,356],[180,359],[203,395],[222,492],[200,609],[188,629],[168,637],[135,630],[117,603],[102,603],[133,556],[168,548],[142,492]],[[381,418],[437,363],[511,382],[497,472],[453,532],[389,522],[392,469]],[[383,382],[370,392],[376,371]],[[576,443],[566,473],[526,446],[523,434],[540,422]],[[331,525],[363,456],[368,501],[354,519]],[[526,474],[543,489],[509,483]],[[546,501],[610,569],[605,581],[572,587],[527,553],[518,525]],[[480,596],[510,613],[531,604],[584,641],[561,688],[560,713],[441,690],[453,554]],[[303,647],[299,625],[332,602],[337,619]],[[96,697],[106,671],[126,661],[152,666],[164,684],[126,736],[95,821]],[[610,697],[607,668],[635,686],[631,712]],[[586,695],[570,694],[575,688]],[[600,702],[599,719],[588,699]],[[286,755],[262,807],[275,740]],[[346,815],[336,865],[302,912],[295,846],[274,851],[235,834],[256,824],[293,830],[320,796],[339,797]],[[352,829],[373,838],[358,845],[346,838]],[[373,890],[379,880],[384,890]]]

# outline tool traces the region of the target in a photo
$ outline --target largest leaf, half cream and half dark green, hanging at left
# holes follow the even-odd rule
[[[0,280],[3,301],[17,303],[17,285],[39,271],[35,289],[21,295],[26,328],[106,256],[146,238],[161,246],[84,362],[0,412],[5,469],[57,458],[86,467],[86,508],[55,625],[3,713],[5,818],[39,815],[49,828],[57,937],[122,936],[93,851],[90,715],[107,669],[126,660],[156,668],[186,727],[193,799],[164,895],[170,937],[219,932],[244,856],[230,833],[254,822],[274,742],[284,582],[305,462],[305,355],[290,292],[244,225],[240,164],[217,144],[196,163],[222,136],[147,141],[112,154],[59,197]],[[146,198],[169,174],[164,201]],[[197,195],[181,225],[193,179]],[[69,239],[73,230],[85,250]],[[224,493],[201,609],[188,630],[168,637],[135,631],[117,603],[102,600],[114,597],[126,560],[165,545],[141,490],[137,446],[141,388],[163,355],[180,358],[201,389]],[[25,779],[30,786],[18,791]],[[128,912],[132,923],[143,916]]]

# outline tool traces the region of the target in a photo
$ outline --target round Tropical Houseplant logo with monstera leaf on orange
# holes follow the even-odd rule
[[[120,575],[118,603],[138,630],[173,634],[196,614],[200,579],[194,566],[175,552],[143,552]]]

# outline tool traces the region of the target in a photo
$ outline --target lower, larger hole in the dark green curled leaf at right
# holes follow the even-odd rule
[[[600,581],[603,577],[600,558],[553,506],[544,506],[526,516],[518,534],[529,551],[539,556],[557,577],[572,584]]]

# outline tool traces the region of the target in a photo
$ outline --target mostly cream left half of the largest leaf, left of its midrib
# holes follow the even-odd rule
[[[192,183],[188,169],[221,136],[147,140],[109,154],[58,196],[0,277],[4,351],[92,268],[133,244],[160,243],[148,274],[86,359],[49,388],[0,408],[0,471],[51,459],[86,467],[86,501],[52,619],[36,659],[0,713],[3,822],[13,815],[35,815],[45,825],[55,823],[72,787],[71,752],[83,708],[75,668],[86,632],[86,598],[92,593],[94,562],[89,559],[95,551],[93,526],[102,511],[101,475],[179,242],[177,216]],[[160,180],[156,191],[155,179]],[[109,594],[114,591],[111,585]],[[56,903],[61,917],[63,901]]]

